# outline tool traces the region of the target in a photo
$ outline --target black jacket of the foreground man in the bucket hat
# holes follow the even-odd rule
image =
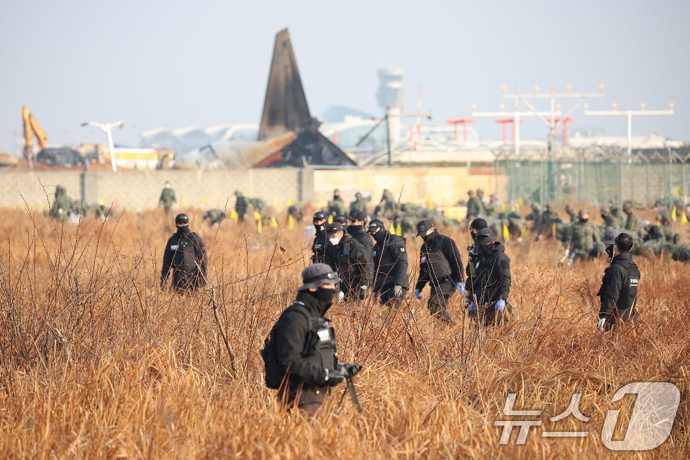
[[[325,304],[308,291],[299,291],[295,302],[305,307],[306,312],[314,322],[328,326],[324,315],[331,304]],[[334,369],[337,365],[335,354],[335,340],[330,353],[319,353],[317,349],[308,349],[311,340],[310,320],[304,314],[288,307],[280,316],[271,331],[271,338],[275,341],[279,371],[284,374],[290,372],[290,386],[299,383],[325,386],[326,369]],[[329,356],[330,355],[330,356]]]

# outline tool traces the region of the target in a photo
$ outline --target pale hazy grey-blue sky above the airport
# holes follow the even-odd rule
[[[378,113],[377,68],[406,70],[405,103],[432,124],[497,110],[500,86],[595,90],[592,108],[665,109],[633,133],[690,140],[687,23],[678,1],[34,1],[0,7],[0,151],[15,151],[26,104],[52,144],[102,140],[86,120],[126,120],[115,142],[168,125],[259,122],[275,32],[288,26],[313,115]],[[507,102],[506,102],[506,105]],[[573,128],[625,133],[624,118]],[[475,127],[499,138],[492,120]],[[522,131],[543,138],[535,119]]]

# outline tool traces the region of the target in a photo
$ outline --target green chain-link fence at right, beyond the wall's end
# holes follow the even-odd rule
[[[684,201],[690,195],[688,147],[633,150],[632,155],[624,149],[601,147],[553,156],[533,151],[515,159],[497,153],[496,173],[508,178],[499,193],[509,202],[597,205],[632,200],[644,206],[659,200],[670,206],[673,200]]]

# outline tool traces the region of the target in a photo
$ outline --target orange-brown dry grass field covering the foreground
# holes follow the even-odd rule
[[[607,410],[631,406],[610,401],[635,381],[681,392],[669,439],[635,455],[690,455],[687,265],[638,258],[640,321],[620,334],[595,329],[606,261],[561,267],[551,242],[509,244],[516,309],[507,327],[477,329],[457,296],[451,327],[413,298],[396,314],[371,300],[335,305],[341,361],[364,365],[355,377],[364,412],[347,396],[337,407],[341,385],[308,420],[278,410],[258,351],[295,295],[310,242],[298,230],[259,237],[189,215],[213,289],[177,296],[158,287],[173,231],[161,211],[79,226],[0,211],[0,457],[623,457],[602,445],[601,430]],[[452,236],[466,247],[465,233]],[[415,277],[418,245],[408,238]],[[510,392],[515,409],[543,411],[524,445],[517,432],[500,445],[493,425],[509,419]],[[589,423],[549,421],[573,392]],[[589,436],[542,437],[583,430]]]

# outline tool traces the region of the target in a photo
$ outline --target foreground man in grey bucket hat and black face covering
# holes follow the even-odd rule
[[[288,408],[297,405],[310,416],[326,400],[328,388],[346,377],[337,361],[335,331],[324,318],[338,281],[326,264],[306,267],[297,298],[280,315],[261,352],[266,386],[278,389],[279,400]]]

